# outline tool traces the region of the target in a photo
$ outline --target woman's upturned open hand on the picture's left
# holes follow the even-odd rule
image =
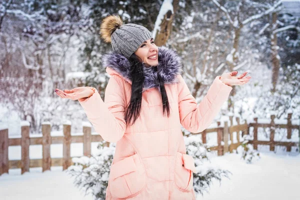
[[[69,98],[72,100],[78,100],[80,98],[88,98],[94,93],[95,88],[93,87],[75,87],[71,90],[68,89],[54,89],[56,94],[61,98]]]

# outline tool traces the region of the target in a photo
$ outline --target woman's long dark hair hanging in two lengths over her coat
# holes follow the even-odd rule
[[[135,120],[138,118],[141,110],[141,99],[142,99],[142,89],[144,82],[144,73],[143,73],[143,65],[134,53],[128,58],[130,62],[130,75],[131,75],[131,97],[130,102],[125,109],[125,121],[126,124],[133,124]],[[159,61],[159,58],[158,58]],[[157,66],[149,66],[155,67],[154,70],[157,71]],[[162,110],[163,115],[170,115],[170,106],[167,99],[167,94],[164,88],[163,80],[161,76],[157,73],[157,79],[159,83],[159,91],[162,100]],[[131,123],[130,123],[131,122]]]

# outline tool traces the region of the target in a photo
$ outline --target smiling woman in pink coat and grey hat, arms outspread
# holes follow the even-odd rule
[[[207,128],[231,85],[250,77],[236,77],[237,71],[217,76],[197,105],[180,75],[179,56],[158,48],[149,30],[108,16],[100,32],[113,49],[103,57],[110,75],[104,101],[93,87],[55,92],[78,100],[102,138],[116,142],[106,199],[195,199],[196,170],[181,125],[191,132]]]

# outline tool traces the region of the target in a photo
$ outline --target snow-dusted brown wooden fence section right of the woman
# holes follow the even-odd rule
[[[275,115],[272,114],[270,116],[270,120],[266,119],[260,119],[258,122],[258,118],[254,117],[253,121],[247,123],[246,120],[244,120],[243,124],[240,124],[239,117],[236,117],[237,124],[233,125],[233,117],[229,116],[230,120],[230,126],[228,126],[228,122],[224,121],[224,125],[221,126],[221,123],[217,121],[217,127],[214,128],[207,128],[203,130],[202,132],[197,133],[191,133],[189,135],[194,134],[201,134],[202,142],[206,143],[206,134],[211,132],[217,132],[217,146],[211,146],[210,150],[217,150],[217,155],[223,155],[226,152],[232,152],[233,149],[236,149],[239,145],[242,144],[242,139],[240,138],[240,131],[241,136],[245,134],[249,134],[250,127],[253,127],[253,139],[249,140],[249,143],[253,144],[253,148],[257,149],[258,144],[262,145],[269,145],[269,150],[274,151],[275,145],[280,146],[286,146],[286,151],[291,151],[291,146],[297,146],[299,145],[299,140],[295,141],[275,141],[274,135],[275,135],[275,128],[286,128],[287,130],[287,140],[291,139],[291,132],[292,129],[298,129],[300,134],[300,123],[299,121],[291,121],[291,115],[292,113],[287,114],[287,120],[275,120]],[[276,122],[276,123],[275,123]],[[270,137],[269,140],[258,140],[258,128],[270,128]],[[236,138],[233,138],[233,133],[236,132]],[[300,135],[299,135],[300,137]],[[233,143],[233,139],[237,141],[236,143]]]

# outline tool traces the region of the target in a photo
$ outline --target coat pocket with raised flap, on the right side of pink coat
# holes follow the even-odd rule
[[[175,184],[183,191],[191,191],[193,183],[192,172],[195,172],[193,157],[177,152],[175,160]]]

